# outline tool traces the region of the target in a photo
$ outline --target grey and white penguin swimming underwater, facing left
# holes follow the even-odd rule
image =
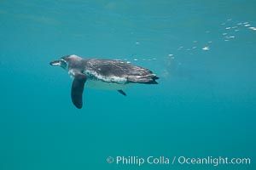
[[[61,66],[73,77],[71,98],[79,109],[83,106],[85,82],[86,87],[117,90],[126,96],[123,89],[132,83],[157,84],[155,80],[159,79],[148,69],[114,59],[83,59],[73,54],[49,64]]]

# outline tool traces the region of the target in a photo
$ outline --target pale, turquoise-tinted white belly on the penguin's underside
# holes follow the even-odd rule
[[[96,80],[87,80],[85,82],[85,88],[97,88],[97,89],[105,89],[105,90],[121,90],[125,88],[129,88],[131,86],[128,84],[119,84],[119,83],[110,83],[110,82],[102,82]]]

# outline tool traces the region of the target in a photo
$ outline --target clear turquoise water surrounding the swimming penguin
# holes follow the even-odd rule
[[[0,169],[255,169],[256,1],[1,1]],[[159,85],[85,88],[49,61],[123,59]],[[169,165],[108,164],[165,156]],[[174,156],[250,165],[172,165]]]

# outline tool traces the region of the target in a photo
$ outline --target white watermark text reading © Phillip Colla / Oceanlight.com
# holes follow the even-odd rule
[[[229,158],[223,156],[206,156],[206,157],[187,157],[187,156],[108,156],[108,163],[117,165],[250,165],[251,159],[243,158]]]

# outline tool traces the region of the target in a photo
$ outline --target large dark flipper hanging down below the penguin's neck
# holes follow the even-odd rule
[[[78,109],[83,107],[83,92],[84,92],[84,83],[86,82],[87,77],[82,73],[77,73],[74,76],[72,89],[71,89],[71,98],[73,105]]]

